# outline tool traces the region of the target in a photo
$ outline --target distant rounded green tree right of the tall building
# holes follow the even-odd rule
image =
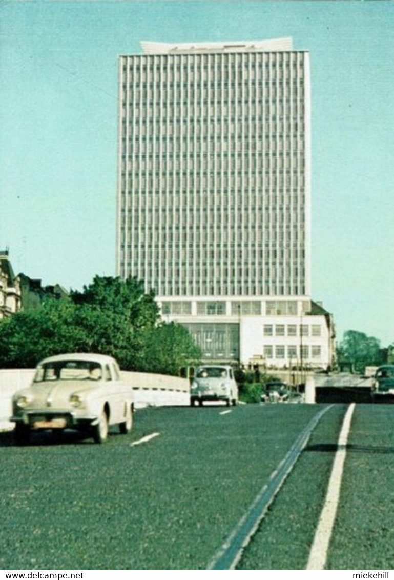
[[[340,364],[348,364],[357,372],[381,364],[380,340],[363,332],[348,330],[337,349]]]

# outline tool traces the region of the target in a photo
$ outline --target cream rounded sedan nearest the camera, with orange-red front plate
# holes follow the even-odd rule
[[[114,358],[59,354],[39,362],[30,387],[14,394],[10,420],[19,443],[26,443],[32,431],[45,429],[76,429],[103,443],[110,425],[130,432],[133,405],[132,387],[121,380]]]

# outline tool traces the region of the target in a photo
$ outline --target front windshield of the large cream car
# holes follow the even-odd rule
[[[56,361],[39,365],[34,377],[35,383],[46,380],[99,380],[101,365],[92,361]]]

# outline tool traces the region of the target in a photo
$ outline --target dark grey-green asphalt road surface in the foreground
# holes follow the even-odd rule
[[[2,433],[0,569],[205,570],[326,409],[237,564],[305,570],[347,408],[146,409],[104,445]],[[327,569],[392,568],[393,411],[355,407]]]

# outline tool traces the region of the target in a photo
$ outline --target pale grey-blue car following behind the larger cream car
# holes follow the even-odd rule
[[[234,370],[229,365],[204,365],[198,367],[191,384],[190,404],[202,405],[204,401],[225,401],[236,405],[238,385]]]

